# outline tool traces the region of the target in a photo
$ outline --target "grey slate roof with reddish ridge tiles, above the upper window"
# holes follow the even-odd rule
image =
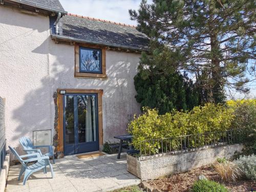
[[[148,38],[135,27],[100,19],[68,14],[62,17],[62,35],[103,45],[124,46],[138,50],[148,48]]]

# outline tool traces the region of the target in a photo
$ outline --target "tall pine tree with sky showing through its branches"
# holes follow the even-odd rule
[[[140,70],[148,66],[163,73],[186,70],[194,74],[202,102],[223,102],[225,88],[243,93],[255,80],[254,0],[142,0],[130,10],[137,29],[151,38],[149,55],[142,54]]]

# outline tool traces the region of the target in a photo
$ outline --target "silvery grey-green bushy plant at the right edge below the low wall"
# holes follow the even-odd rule
[[[233,162],[238,165],[248,179],[256,181],[256,155],[241,156]]]

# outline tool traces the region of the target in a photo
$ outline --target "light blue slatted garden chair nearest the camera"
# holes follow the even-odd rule
[[[23,185],[26,184],[26,181],[28,180],[29,176],[33,174],[34,172],[37,172],[38,170],[44,169],[44,173],[46,174],[46,166],[49,165],[51,168],[51,173],[52,173],[52,178],[54,177],[54,172],[52,165],[50,163],[49,157],[48,156],[41,156],[39,153],[33,153],[33,154],[26,154],[26,155],[21,155],[19,156],[18,153],[9,146],[11,152],[14,154],[14,156],[19,160],[19,162],[22,164],[22,168],[20,169],[19,176],[18,176],[18,181],[20,180],[20,177],[22,174],[25,172],[25,176],[23,179]],[[23,159],[23,158],[30,158],[30,159]],[[32,161],[37,161],[36,163],[29,165],[29,162]]]

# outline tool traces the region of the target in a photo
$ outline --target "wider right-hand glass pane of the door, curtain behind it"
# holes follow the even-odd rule
[[[78,142],[96,141],[95,95],[78,95]]]

